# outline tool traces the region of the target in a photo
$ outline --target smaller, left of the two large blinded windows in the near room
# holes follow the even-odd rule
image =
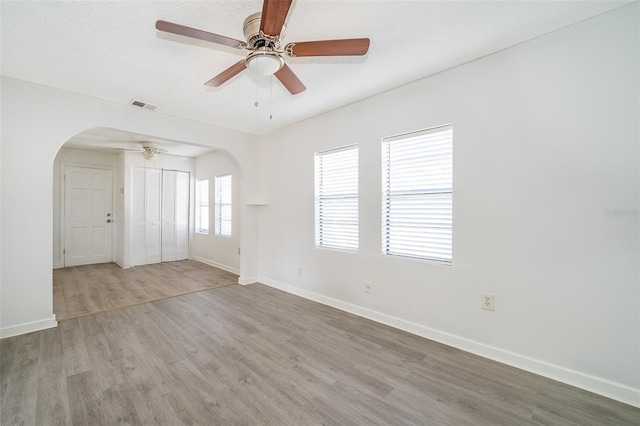
[[[316,246],[358,249],[358,147],[315,155]]]

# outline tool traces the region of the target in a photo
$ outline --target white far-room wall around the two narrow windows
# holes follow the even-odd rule
[[[232,185],[232,230],[231,237],[215,235],[214,202],[215,178],[231,174]],[[193,254],[197,260],[238,273],[240,267],[240,187],[239,170],[235,162],[222,152],[211,152],[196,158],[196,180],[209,180],[209,234],[194,235]]]

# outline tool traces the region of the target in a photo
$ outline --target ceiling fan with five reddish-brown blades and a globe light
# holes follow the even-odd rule
[[[156,29],[249,51],[245,59],[207,81],[207,86],[218,87],[246,68],[250,68],[261,75],[274,74],[282,85],[295,95],[304,91],[306,87],[284,62],[283,55],[362,56],[369,50],[369,39],[315,40],[292,42],[283,46],[284,23],[292,1],[264,0],[262,12],[254,13],[244,21],[246,42],[163,20],[156,22]]]

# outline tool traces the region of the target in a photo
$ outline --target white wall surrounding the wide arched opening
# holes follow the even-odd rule
[[[94,127],[110,127],[228,152],[242,187],[256,187],[255,137],[158,112],[2,77],[0,170],[0,337],[55,326],[53,164],[60,146]],[[243,191],[243,194],[251,190]],[[244,206],[244,204],[242,204]],[[257,276],[257,214],[241,207],[240,280]]]

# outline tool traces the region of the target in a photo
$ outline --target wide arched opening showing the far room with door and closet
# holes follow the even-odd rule
[[[139,149],[141,143],[148,141],[158,148],[157,155],[147,156],[147,152]],[[197,232],[194,227],[196,183],[201,179],[213,181],[223,174],[235,176],[237,182],[233,197],[235,208],[232,209],[235,211],[233,232],[222,237]],[[107,176],[109,185],[95,188],[96,181],[102,185]],[[70,138],[60,148],[54,159],[53,181],[53,308],[58,320],[238,282],[242,173],[229,153],[122,130],[93,128]],[[182,193],[179,188],[183,188]],[[215,189],[211,188],[212,194]],[[183,200],[181,207],[176,204],[179,200]],[[155,207],[154,202],[157,203]],[[93,212],[99,226],[84,230],[74,225],[78,222],[76,212],[91,217],[93,208],[100,210]],[[178,213],[173,222],[168,218],[172,211]],[[186,222],[176,222],[180,212]],[[182,237],[175,232],[177,223],[185,223],[186,234]],[[70,230],[73,226],[76,228]],[[138,232],[140,229],[142,234]],[[79,244],[73,240],[74,232],[80,235]],[[83,237],[85,235],[88,237]],[[97,238],[91,238],[95,236]],[[187,242],[188,246],[175,250],[173,256],[167,255],[170,244],[179,241]],[[70,261],[79,258],[77,254],[81,249],[100,244],[104,244],[102,251],[109,252],[100,257],[87,256],[89,260],[85,262]],[[101,248],[93,251],[101,252]],[[145,252],[153,255],[145,258]],[[175,256],[181,252],[182,257]],[[174,263],[171,268],[121,270],[179,260],[185,262]],[[216,270],[204,271],[194,265],[195,261]],[[73,273],[62,269],[83,264],[92,266],[79,267]],[[195,277],[192,281],[179,279],[181,274],[187,274],[187,270]],[[177,275],[172,280],[174,273]],[[154,275],[162,275],[164,279],[145,286],[144,291],[139,291],[137,284],[131,285],[131,282],[152,282]],[[84,280],[84,284],[78,280]]]

